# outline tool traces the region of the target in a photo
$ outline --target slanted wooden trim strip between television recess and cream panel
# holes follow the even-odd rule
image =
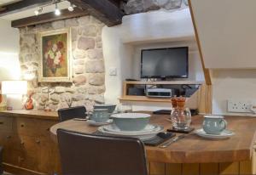
[[[198,35],[197,27],[196,27],[196,24],[195,24],[195,16],[194,16],[194,13],[193,13],[191,0],[189,0],[189,10],[190,10],[192,22],[193,22],[193,25],[194,25],[195,38],[196,38],[197,46],[198,46],[198,49],[199,49],[199,54],[200,54],[200,58],[201,58],[201,65],[202,65],[202,68],[203,68],[203,71],[204,71],[204,74],[205,74],[206,83],[207,83],[207,85],[212,85],[211,72],[210,72],[209,69],[206,68],[205,61],[204,61],[204,58],[203,58],[200,37]]]

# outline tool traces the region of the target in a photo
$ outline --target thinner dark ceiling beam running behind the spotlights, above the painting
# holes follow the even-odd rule
[[[54,12],[50,12],[47,14],[40,14],[38,16],[32,16],[28,18],[23,18],[20,20],[13,20],[11,25],[15,28],[20,28],[28,25],[38,25],[47,22],[52,22],[55,20],[65,20],[69,18],[75,18],[79,16],[88,15],[89,13],[80,8],[74,8],[73,12],[68,11],[68,9],[62,9],[61,15],[56,16]]]

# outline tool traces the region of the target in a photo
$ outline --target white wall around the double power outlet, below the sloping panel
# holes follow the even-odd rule
[[[214,70],[212,75],[213,114],[234,115],[227,111],[228,99],[256,100],[256,70]]]

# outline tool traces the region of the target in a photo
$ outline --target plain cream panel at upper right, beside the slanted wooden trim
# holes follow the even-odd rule
[[[207,68],[256,68],[256,1],[191,0]]]

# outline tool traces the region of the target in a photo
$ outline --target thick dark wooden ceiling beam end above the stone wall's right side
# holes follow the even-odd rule
[[[90,15],[108,26],[122,23],[124,13],[110,0],[69,0],[69,2],[88,10]]]

